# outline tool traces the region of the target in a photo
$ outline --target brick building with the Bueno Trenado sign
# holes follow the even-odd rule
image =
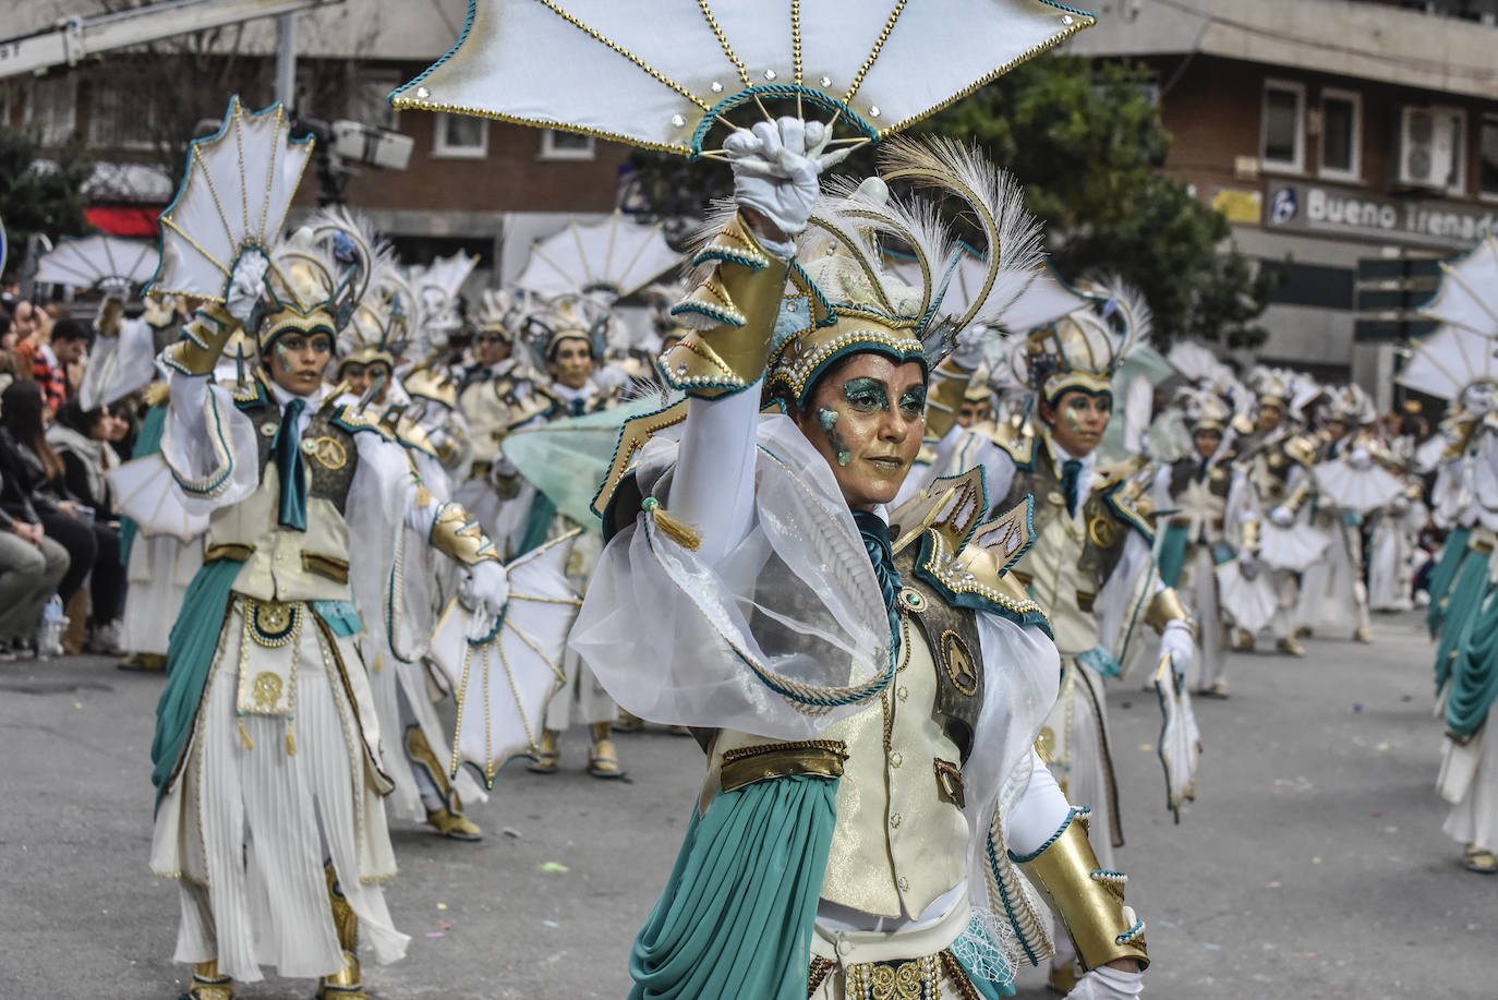
[[[1109,0],[1070,51],[1155,69],[1164,166],[1279,273],[1266,361],[1387,385],[1432,261],[1498,229],[1498,0]]]

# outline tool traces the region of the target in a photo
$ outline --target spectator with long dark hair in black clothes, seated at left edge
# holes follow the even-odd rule
[[[15,382],[0,393],[0,477],[6,487],[0,507],[12,517],[34,511],[46,535],[67,549],[67,573],[57,586],[63,604],[93,571],[96,646],[114,652],[109,637],[118,633],[124,603],[120,532],[96,522],[93,508],[67,489],[67,469],[43,433],[43,411],[36,382]]]

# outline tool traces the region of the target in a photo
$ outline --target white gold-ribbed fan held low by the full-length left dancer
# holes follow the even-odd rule
[[[472,615],[454,598],[431,636],[428,657],[452,682],[457,729],[449,772],[469,765],[494,787],[500,768],[539,753],[542,717],[566,684],[562,654],[583,601],[566,583],[572,531],[509,565],[509,603],[487,642],[469,639]]]

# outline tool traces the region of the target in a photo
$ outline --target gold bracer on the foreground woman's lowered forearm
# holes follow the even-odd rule
[[[1121,958],[1135,960],[1140,969],[1149,966],[1144,924],[1124,912],[1128,879],[1098,865],[1088,843],[1086,813],[1073,810],[1067,826],[1046,847],[1014,861],[1067,925],[1083,966],[1097,969]]]

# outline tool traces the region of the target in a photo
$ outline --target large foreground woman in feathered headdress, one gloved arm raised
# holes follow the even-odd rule
[[[1007,573],[1028,498],[990,519],[974,471],[890,507],[930,367],[1023,289],[1034,229],[972,153],[890,144],[887,180],[956,193],[987,232],[992,285],[947,315],[935,205],[881,180],[818,202],[825,138],[780,118],[725,142],[737,211],[677,306],[698,328],[661,358],[688,400],[625,424],[599,495],[616,534],[572,645],[709,753],[631,996],[1013,996],[1013,963],[1050,954],[1022,871],[1092,970],[1076,996],[1137,996],[1124,876],[1032,750],[1058,661]],[[882,270],[888,238],[923,286]]]

